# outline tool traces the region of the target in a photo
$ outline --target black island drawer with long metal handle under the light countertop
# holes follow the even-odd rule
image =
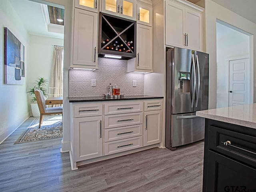
[[[256,137],[209,126],[209,149],[256,167]]]

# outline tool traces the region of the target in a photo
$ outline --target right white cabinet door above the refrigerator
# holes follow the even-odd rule
[[[202,50],[202,14],[186,8],[185,31],[187,33],[187,48]]]

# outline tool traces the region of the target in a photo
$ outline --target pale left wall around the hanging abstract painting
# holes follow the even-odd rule
[[[7,27],[25,46],[24,85],[4,84],[4,27]],[[26,94],[28,84],[29,35],[19,16],[8,0],[0,1],[0,143],[29,116],[29,103]]]

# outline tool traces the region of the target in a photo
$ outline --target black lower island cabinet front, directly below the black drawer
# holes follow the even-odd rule
[[[256,190],[256,169],[208,150],[204,192]]]

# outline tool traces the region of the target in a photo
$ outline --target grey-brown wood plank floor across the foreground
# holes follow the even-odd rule
[[[29,118],[0,145],[1,192],[201,192],[204,142],[153,148],[71,171],[61,139],[16,144]]]

